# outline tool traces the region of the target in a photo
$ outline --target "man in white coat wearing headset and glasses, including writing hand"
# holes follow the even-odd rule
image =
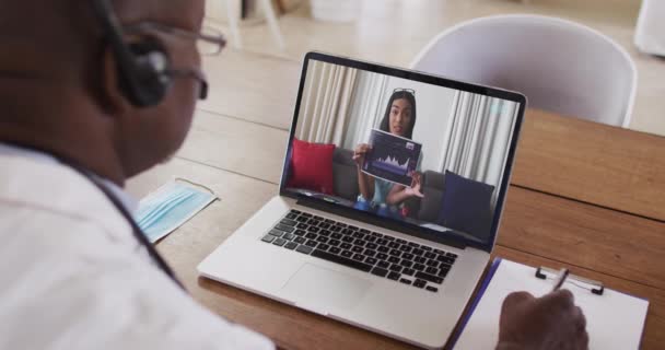
[[[269,349],[191,300],[129,212],[207,83],[202,0],[0,2],[0,349]],[[567,291],[504,303],[498,349],[585,349]]]

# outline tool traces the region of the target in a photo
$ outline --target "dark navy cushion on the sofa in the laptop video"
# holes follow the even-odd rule
[[[445,172],[444,184],[438,223],[487,240],[492,224],[490,206],[494,186],[450,171]]]

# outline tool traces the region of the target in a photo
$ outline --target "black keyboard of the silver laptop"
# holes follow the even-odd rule
[[[298,253],[438,292],[457,255],[291,210],[262,238]]]

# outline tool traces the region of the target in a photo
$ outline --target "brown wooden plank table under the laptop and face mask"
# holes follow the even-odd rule
[[[205,61],[209,100],[178,155],[128,184],[174,176],[222,198],[158,244],[192,296],[287,349],[405,349],[402,342],[199,278],[196,265],[278,190],[300,63],[225,51]],[[642,349],[665,348],[665,139],[527,110],[495,256],[649,299]]]

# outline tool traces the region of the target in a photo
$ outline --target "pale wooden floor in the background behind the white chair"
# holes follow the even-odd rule
[[[293,0],[287,2],[302,2]],[[665,136],[665,58],[640,52],[634,27],[641,0],[362,0],[355,23],[315,21],[307,5],[281,16],[287,46],[280,49],[268,26],[241,30],[244,48],[270,57],[301,60],[323,50],[349,57],[408,67],[436,34],[479,16],[529,13],[559,16],[590,26],[623,47],[635,61],[638,90],[630,128]],[[527,3],[524,3],[527,2]],[[229,33],[223,1],[208,1],[209,23]],[[256,21],[255,21],[256,22]],[[262,69],[260,66],[258,69]],[[248,72],[250,72],[248,70]],[[253,74],[250,72],[250,74]]]

